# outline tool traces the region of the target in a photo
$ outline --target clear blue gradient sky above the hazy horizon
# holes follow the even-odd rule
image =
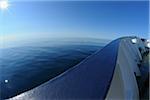
[[[148,37],[149,2],[145,1],[15,1],[0,13],[0,36]]]

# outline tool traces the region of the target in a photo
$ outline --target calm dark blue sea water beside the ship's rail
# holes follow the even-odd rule
[[[0,48],[1,99],[16,96],[47,82],[103,46],[94,42],[35,42]]]

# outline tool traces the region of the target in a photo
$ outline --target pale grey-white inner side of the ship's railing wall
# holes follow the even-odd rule
[[[106,100],[139,99],[136,76],[141,75],[138,63],[146,49],[141,39],[136,39],[136,43],[131,38],[122,39],[120,42],[115,73]]]

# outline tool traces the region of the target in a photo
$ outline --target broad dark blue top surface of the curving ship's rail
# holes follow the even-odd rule
[[[21,94],[19,99],[104,99],[114,74],[119,43],[120,39],[109,43],[65,73]]]

